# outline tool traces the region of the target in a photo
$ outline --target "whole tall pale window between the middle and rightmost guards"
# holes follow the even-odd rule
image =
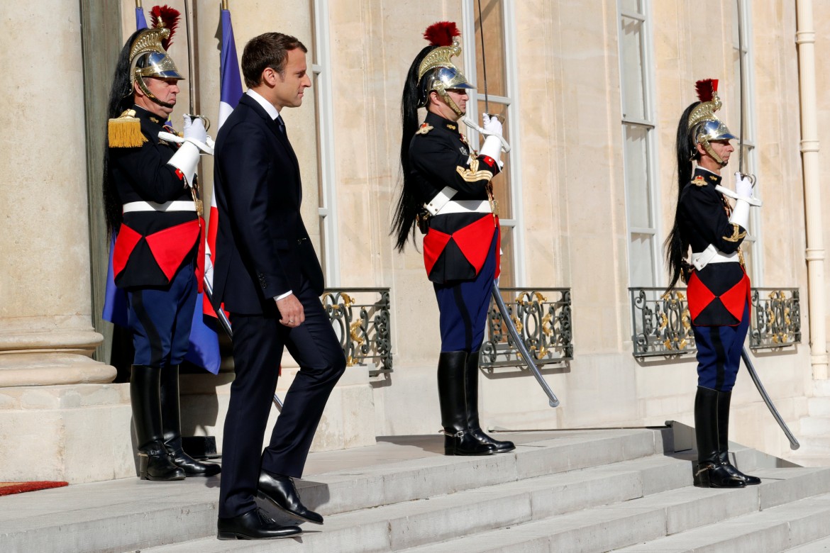
[[[628,279],[632,286],[662,281],[659,205],[655,182],[655,118],[648,0],[618,0],[623,167],[628,224]]]

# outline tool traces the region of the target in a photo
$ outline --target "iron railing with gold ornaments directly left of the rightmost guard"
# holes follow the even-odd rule
[[[686,289],[629,288],[634,357],[676,356],[696,351]]]

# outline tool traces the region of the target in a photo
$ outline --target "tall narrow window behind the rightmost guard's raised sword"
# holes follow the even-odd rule
[[[749,94],[749,90],[753,90],[753,72],[752,72],[752,48],[751,41],[751,5],[752,2],[740,0],[740,16],[738,10],[738,2],[732,2],[732,65],[733,65],[733,79],[732,85],[728,95],[730,99],[729,106],[729,128],[733,134],[739,136],[744,133],[744,172],[748,174],[755,174],[758,169],[757,153],[755,152],[755,110],[753,103],[753,96]],[[740,21],[740,26],[738,22]],[[740,36],[739,32],[743,35]],[[742,38],[743,44],[741,45]],[[742,47],[741,47],[742,46]],[[741,113],[740,113],[740,58],[744,58],[744,114],[743,114],[743,129],[741,129]],[[735,148],[738,144],[735,143]],[[738,152],[732,154],[728,171],[725,170],[725,179],[731,179],[732,174],[738,170]],[[728,185],[730,186],[730,185]],[[760,197],[758,187],[755,187],[755,196]],[[749,229],[747,235],[741,244],[741,250],[744,252],[746,260],[746,269],[749,277],[753,280],[753,284],[760,286],[760,279],[764,274],[764,256],[761,255],[761,248],[759,248],[760,235],[760,218],[757,209],[749,210]]]

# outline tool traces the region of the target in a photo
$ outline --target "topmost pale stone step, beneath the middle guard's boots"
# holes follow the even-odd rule
[[[515,451],[486,457],[444,456],[442,436],[437,435],[378,438],[378,444],[365,448],[315,453],[297,488],[308,507],[330,517],[371,507],[428,503],[428,497],[441,494],[521,483],[671,450],[668,429],[522,433],[506,438],[516,442]],[[662,469],[653,470],[660,474]],[[688,465],[683,470],[666,478],[689,478]],[[647,486],[655,485],[652,478],[648,481]],[[134,551],[215,536],[218,484],[218,478],[174,483],[126,478],[0,497],[0,551]],[[330,524],[325,528],[322,535]]]

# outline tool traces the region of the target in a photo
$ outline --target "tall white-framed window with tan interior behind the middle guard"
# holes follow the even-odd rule
[[[481,2],[481,17],[479,17]],[[504,0],[464,0],[464,74],[476,90],[467,104],[466,117],[481,125],[481,114],[487,111],[504,117],[504,136],[510,153],[502,153],[505,169],[493,179],[493,192],[498,202],[501,223],[500,284],[508,288],[525,284],[522,260],[523,236],[515,217],[521,213],[519,157],[519,110],[516,105],[515,18],[514,2]],[[475,29],[475,32],[472,32]],[[484,50],[481,49],[482,30]],[[485,65],[486,64],[486,65]],[[485,96],[486,71],[486,96]],[[467,130],[473,148],[479,148],[476,132]],[[511,163],[511,160],[514,163]]]

